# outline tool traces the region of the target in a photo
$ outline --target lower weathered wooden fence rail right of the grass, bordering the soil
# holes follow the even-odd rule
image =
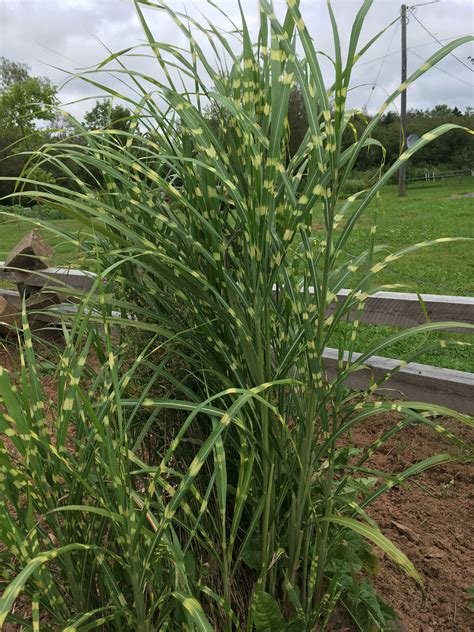
[[[344,358],[347,359],[347,352],[344,353]],[[354,353],[353,359],[356,360],[360,355]],[[338,351],[327,348],[323,356],[326,374],[329,379],[333,379],[336,375]],[[378,382],[388,371],[400,364],[400,360],[372,356],[365,362],[365,368],[348,377],[347,385],[355,390],[365,390],[370,385],[371,378]],[[376,392],[386,397],[439,404],[474,415],[474,373],[410,362]]]

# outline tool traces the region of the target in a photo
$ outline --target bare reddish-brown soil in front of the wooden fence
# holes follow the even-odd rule
[[[12,371],[18,366],[14,346],[5,347],[0,342],[0,366]],[[51,378],[45,378],[44,385],[47,395],[54,397]],[[360,447],[371,444],[395,420],[395,416],[381,415],[356,428],[354,443]],[[453,419],[442,419],[440,423],[471,445],[474,443],[474,429]],[[438,433],[417,426],[392,438],[371,458],[370,465],[395,473],[441,452],[463,456]],[[400,614],[406,632],[474,631],[467,593],[474,585],[473,478],[474,463],[448,463],[392,489],[369,510],[383,533],[408,555],[424,580],[425,596],[387,558],[382,560],[375,579],[377,590]],[[18,628],[3,629],[13,632]],[[352,632],[346,624],[334,629]]]

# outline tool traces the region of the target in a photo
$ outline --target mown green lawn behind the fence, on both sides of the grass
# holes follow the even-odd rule
[[[474,178],[456,178],[448,184],[429,184],[408,187],[405,198],[398,197],[396,186],[385,187],[381,201],[367,212],[366,219],[354,230],[348,248],[354,253],[367,244],[373,213],[377,217],[377,243],[389,251],[437,237],[468,237],[474,239],[474,198],[456,197],[474,192]],[[52,220],[60,230],[80,233],[80,225],[73,220]],[[34,224],[26,219],[4,221],[1,225],[0,259]],[[55,246],[57,265],[78,265],[78,251],[70,243],[46,229],[42,234]],[[382,283],[403,284],[400,291],[425,294],[452,294],[474,296],[474,242],[461,241],[425,248],[392,264],[379,275]],[[357,347],[360,351],[389,333],[393,327],[364,325],[360,329]],[[403,357],[414,345],[425,345],[437,339],[458,340],[469,343],[470,335],[432,334],[429,338],[411,339],[393,345],[385,355]],[[337,340],[334,340],[337,346]],[[435,349],[423,354],[420,362],[445,366],[461,371],[474,371],[474,351],[463,347]]]

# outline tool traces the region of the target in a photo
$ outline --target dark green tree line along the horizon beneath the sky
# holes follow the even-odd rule
[[[67,117],[58,115],[57,89],[45,77],[31,74],[26,64],[0,57],[0,175],[15,178],[28,176],[28,152],[38,149],[45,142],[54,142],[77,134],[77,128]],[[210,107],[212,123],[222,116],[219,108]],[[346,126],[343,144],[349,146],[360,136],[371,116],[354,112]],[[96,101],[85,113],[81,124],[86,129],[116,129],[128,131],[132,113],[127,107],[112,105],[108,100]],[[468,128],[474,125],[474,108],[464,112],[457,107],[436,105],[432,109],[413,109],[408,112],[408,135],[422,136],[442,123],[456,123]],[[288,151],[291,155],[301,143],[307,131],[305,107],[301,91],[296,85],[291,93],[288,112]],[[137,134],[140,133],[138,130]],[[387,112],[377,126],[373,137],[381,143],[383,150],[371,146],[361,154],[357,171],[361,179],[371,177],[381,166],[391,165],[399,154],[400,124],[398,114]],[[76,135],[80,143],[80,134]],[[408,177],[425,172],[470,169],[474,166],[474,136],[462,130],[430,143],[412,158],[408,165]],[[71,170],[74,171],[74,165]],[[48,170],[35,167],[34,179],[40,182],[54,181],[54,168]],[[88,177],[75,174],[76,177]],[[74,179],[70,186],[74,187]],[[0,198],[13,191],[11,181],[0,180]]]

